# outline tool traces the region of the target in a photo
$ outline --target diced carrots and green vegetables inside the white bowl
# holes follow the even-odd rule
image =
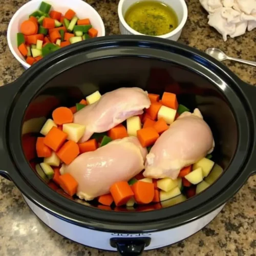
[[[17,47],[29,65],[62,47],[98,35],[89,18],[79,19],[71,9],[62,15],[51,8],[41,2],[39,9],[20,25]]]

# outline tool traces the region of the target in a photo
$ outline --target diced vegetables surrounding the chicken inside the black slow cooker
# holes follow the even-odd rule
[[[99,100],[100,93],[97,91],[89,95],[86,100],[82,99],[71,108],[62,106],[55,109],[52,119],[47,119],[41,127],[40,134],[43,137],[31,138],[26,137],[26,134],[23,137],[27,158],[32,160],[36,157],[33,153],[35,145],[37,157],[44,158],[41,163],[35,165],[37,174],[46,182],[53,180],[67,193],[66,195],[73,197],[78,183],[70,174],[61,174],[62,163],[70,164],[79,154],[95,151],[112,140],[128,136],[137,136],[141,145],[147,147],[150,152],[159,136],[177,118],[176,114],[189,111],[186,106],[178,104],[175,94],[165,92],[161,101],[159,95],[148,96],[152,104],[142,116],[128,118],[125,124],[119,124],[108,132],[95,133],[90,140],[83,143],[79,143],[79,140],[86,127],[73,123],[73,115],[87,104]],[[98,197],[98,203],[108,207],[125,205],[127,209],[133,209],[138,204],[157,203],[159,209],[183,202],[201,193],[222,174],[223,169],[211,158],[212,155],[209,154],[193,165],[184,167],[176,180],[145,178],[142,171],[129,181],[114,183],[110,194]]]

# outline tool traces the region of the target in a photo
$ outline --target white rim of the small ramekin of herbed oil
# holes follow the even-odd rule
[[[145,35],[145,34],[141,34],[141,33],[139,33],[138,31],[134,30],[133,28],[131,28],[131,27],[125,22],[124,17],[123,17],[123,14],[122,14],[122,7],[123,7],[124,1],[127,1],[127,0],[120,0],[120,2],[119,2],[119,4],[118,4],[118,17],[119,17],[119,22],[121,22],[121,24],[124,26],[124,28],[125,28],[127,31],[129,31],[131,34],[133,34],[133,35]],[[157,0],[157,1],[161,2],[161,0]],[[185,3],[185,0],[176,0],[176,1],[179,1],[179,2],[181,3],[182,9],[183,9],[183,16],[182,16],[182,19],[181,19],[181,22],[180,22],[179,26],[178,26],[176,29],[174,29],[173,31],[171,31],[171,32],[169,32],[169,33],[167,33],[167,34],[164,34],[164,35],[157,35],[157,36],[154,36],[154,37],[166,38],[166,39],[168,39],[168,38],[170,38],[170,37],[173,37],[174,35],[176,35],[177,33],[179,33],[179,32],[183,29],[183,27],[184,27],[184,25],[185,25],[185,23],[186,23],[186,21],[187,21],[187,13],[188,13],[188,11],[187,11],[187,5],[186,5],[186,3]],[[131,6],[131,5],[130,5],[130,6]]]

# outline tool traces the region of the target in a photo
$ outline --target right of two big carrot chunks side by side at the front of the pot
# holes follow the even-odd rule
[[[149,204],[153,201],[155,189],[153,183],[137,181],[131,186],[134,199],[138,204]]]

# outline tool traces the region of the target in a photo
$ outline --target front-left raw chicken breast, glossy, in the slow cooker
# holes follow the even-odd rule
[[[115,182],[129,181],[140,173],[146,154],[136,137],[126,137],[81,154],[71,164],[63,164],[60,173],[76,179],[80,199],[92,200],[109,193]]]

